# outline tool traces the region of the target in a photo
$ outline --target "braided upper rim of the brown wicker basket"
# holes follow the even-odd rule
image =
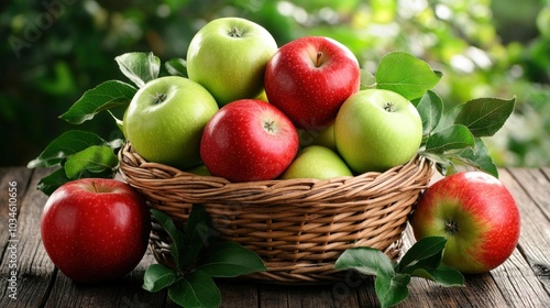
[[[226,202],[273,204],[286,199],[300,199],[297,206],[341,207],[342,202],[363,198],[372,194],[392,198],[388,193],[424,189],[418,177],[431,177],[433,163],[417,155],[404,165],[386,172],[367,172],[355,176],[340,176],[330,179],[294,178],[233,183],[223,177],[191,174],[176,167],[145,161],[127,142],[119,152],[120,170],[131,185],[136,187],[174,187],[174,193],[190,204],[219,202],[223,195]],[[182,188],[182,184],[188,184]],[[284,191],[284,196],[280,191]],[[321,201],[321,202],[320,202]]]

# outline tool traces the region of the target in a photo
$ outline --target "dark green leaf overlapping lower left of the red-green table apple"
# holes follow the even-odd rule
[[[427,237],[417,241],[403,256],[399,262],[398,272],[410,273],[407,271],[410,266],[418,264],[422,260],[431,258],[433,255],[439,255],[439,261],[431,266],[437,268],[441,264],[442,252],[446,248],[447,239],[443,237]]]

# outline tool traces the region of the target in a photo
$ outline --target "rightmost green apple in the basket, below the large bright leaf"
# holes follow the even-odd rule
[[[384,172],[416,155],[422,141],[422,120],[415,106],[399,94],[362,90],[340,108],[334,141],[354,172]]]

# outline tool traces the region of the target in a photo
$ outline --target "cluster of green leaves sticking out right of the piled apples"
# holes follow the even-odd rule
[[[374,76],[363,72],[361,86],[398,92],[415,105],[424,129],[419,154],[433,161],[442,175],[465,164],[498,177],[483,138],[504,125],[516,98],[477,98],[446,109],[433,90],[442,76],[426,62],[394,52],[382,58]]]

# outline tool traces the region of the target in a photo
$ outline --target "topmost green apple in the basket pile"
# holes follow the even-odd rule
[[[264,72],[277,43],[261,25],[240,18],[207,23],[187,50],[187,74],[207,88],[220,106],[256,98],[264,89]]]

